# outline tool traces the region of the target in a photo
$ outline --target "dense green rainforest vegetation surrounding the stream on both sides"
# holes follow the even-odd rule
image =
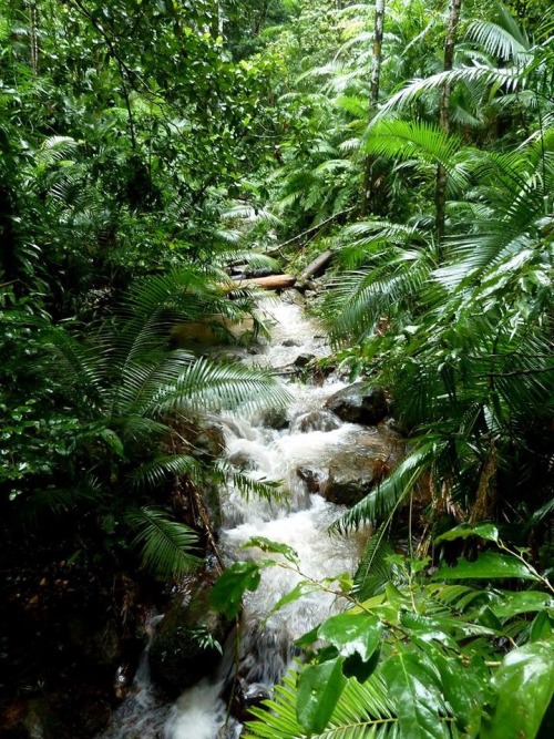
[[[410,451],[338,521],[377,531],[351,608],[249,732],[550,736],[553,30],[532,0],[0,0],[4,571],[194,564],[184,500],[228,474],[201,418],[284,391],[172,331],[235,340],[227,265],[331,249],[329,361]]]

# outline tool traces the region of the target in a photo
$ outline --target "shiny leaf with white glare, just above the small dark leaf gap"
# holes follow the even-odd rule
[[[330,642],[343,657],[359,654],[367,661],[381,642],[382,626],[369,614],[338,614],[319,627],[319,638]]]

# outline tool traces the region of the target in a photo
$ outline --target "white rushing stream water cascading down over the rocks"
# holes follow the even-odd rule
[[[271,339],[260,353],[253,356],[242,351],[240,361],[269,367],[286,378],[285,368],[298,356],[309,352],[322,357],[328,352],[321,331],[297,305],[268,302],[265,309],[275,322]],[[280,429],[267,425],[263,414],[226,415],[220,420],[228,460],[248,469],[255,478],[283,481],[286,494],[283,500],[270,503],[252,496],[246,501],[233,487],[222,492],[224,523],[219,545],[225,561],[259,556],[259,550],[242,550],[242,546],[253,536],[264,536],[293,547],[301,573],[293,567],[269,567],[263,572],[257,591],[245,597],[239,674],[246,699],[268,695],[294,663],[294,640],[345,604],[329,593],[315,591],[267,617],[273,606],[299,579],[352,573],[360,553],[359,538],[328,534],[329,525],[342,509],[318,494],[310,494],[298,469],[309,466],[325,486],[326,463],[330,456],[341,449],[351,449],[359,437],[367,437],[368,429],[341,423],[321,410],[325,400],[343,387],[340,381],[327,380],[321,387],[290,379],[283,381],[293,400],[286,424],[278,424]],[[278,555],[269,556],[278,558]],[[236,653],[236,639],[229,638],[217,673],[186,690],[173,706],[156,700],[148,680],[146,653],[133,694],[114,715],[103,739],[238,738],[240,723],[226,718],[227,706],[223,698],[235,676]]]

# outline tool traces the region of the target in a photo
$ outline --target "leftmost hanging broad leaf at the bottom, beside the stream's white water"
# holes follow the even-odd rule
[[[308,735],[321,733],[347,684],[342,659],[307,667],[298,679],[296,714]]]

